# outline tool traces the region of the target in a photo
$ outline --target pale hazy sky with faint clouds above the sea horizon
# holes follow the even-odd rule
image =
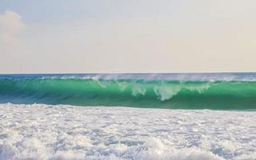
[[[0,74],[256,71],[255,0],[0,0]]]

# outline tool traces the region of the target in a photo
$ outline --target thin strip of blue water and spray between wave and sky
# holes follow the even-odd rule
[[[149,73],[149,74],[0,74],[1,78],[58,78],[58,79],[144,79],[178,81],[256,81],[256,73]]]

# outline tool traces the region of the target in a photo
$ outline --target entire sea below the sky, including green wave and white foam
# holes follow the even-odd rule
[[[2,74],[0,160],[255,160],[256,74]]]

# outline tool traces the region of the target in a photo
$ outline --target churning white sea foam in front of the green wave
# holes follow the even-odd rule
[[[256,112],[0,104],[0,159],[255,159]]]

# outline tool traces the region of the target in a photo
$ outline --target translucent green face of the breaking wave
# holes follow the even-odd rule
[[[0,102],[169,109],[254,110],[256,82],[2,78]]]

